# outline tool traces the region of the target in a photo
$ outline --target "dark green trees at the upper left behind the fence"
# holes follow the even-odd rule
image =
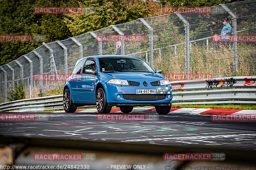
[[[64,15],[34,14],[35,6],[77,6],[77,1],[0,0],[0,34],[42,34],[45,42],[71,36]],[[42,42],[0,42],[0,65],[36,49]]]

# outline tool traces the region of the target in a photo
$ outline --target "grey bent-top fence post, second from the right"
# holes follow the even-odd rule
[[[188,78],[188,74],[190,72],[189,70],[189,50],[190,50],[190,44],[189,44],[189,23],[188,21],[180,14],[180,13],[175,13],[179,18],[180,20],[185,24],[185,51],[186,51],[186,78]]]

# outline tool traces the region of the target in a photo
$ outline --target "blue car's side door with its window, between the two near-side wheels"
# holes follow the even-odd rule
[[[77,79],[77,97],[79,100],[84,101],[95,101],[95,80],[97,75],[85,74],[86,69],[92,69],[93,71],[97,70],[96,60],[89,58],[86,60],[81,79]]]

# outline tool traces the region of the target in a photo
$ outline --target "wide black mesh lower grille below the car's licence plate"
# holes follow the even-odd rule
[[[136,94],[131,94],[123,95],[125,100],[133,100],[133,101],[157,101],[157,100],[164,100],[166,98],[166,94],[141,94],[141,95],[136,95]]]

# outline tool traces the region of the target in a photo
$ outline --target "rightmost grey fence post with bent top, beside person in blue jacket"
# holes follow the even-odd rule
[[[233,36],[237,36],[237,22],[236,22],[236,14],[234,14],[225,4],[220,4],[220,6],[228,12],[232,17],[232,26],[233,26]],[[237,42],[233,42],[233,72],[237,74],[238,65],[237,65]]]

